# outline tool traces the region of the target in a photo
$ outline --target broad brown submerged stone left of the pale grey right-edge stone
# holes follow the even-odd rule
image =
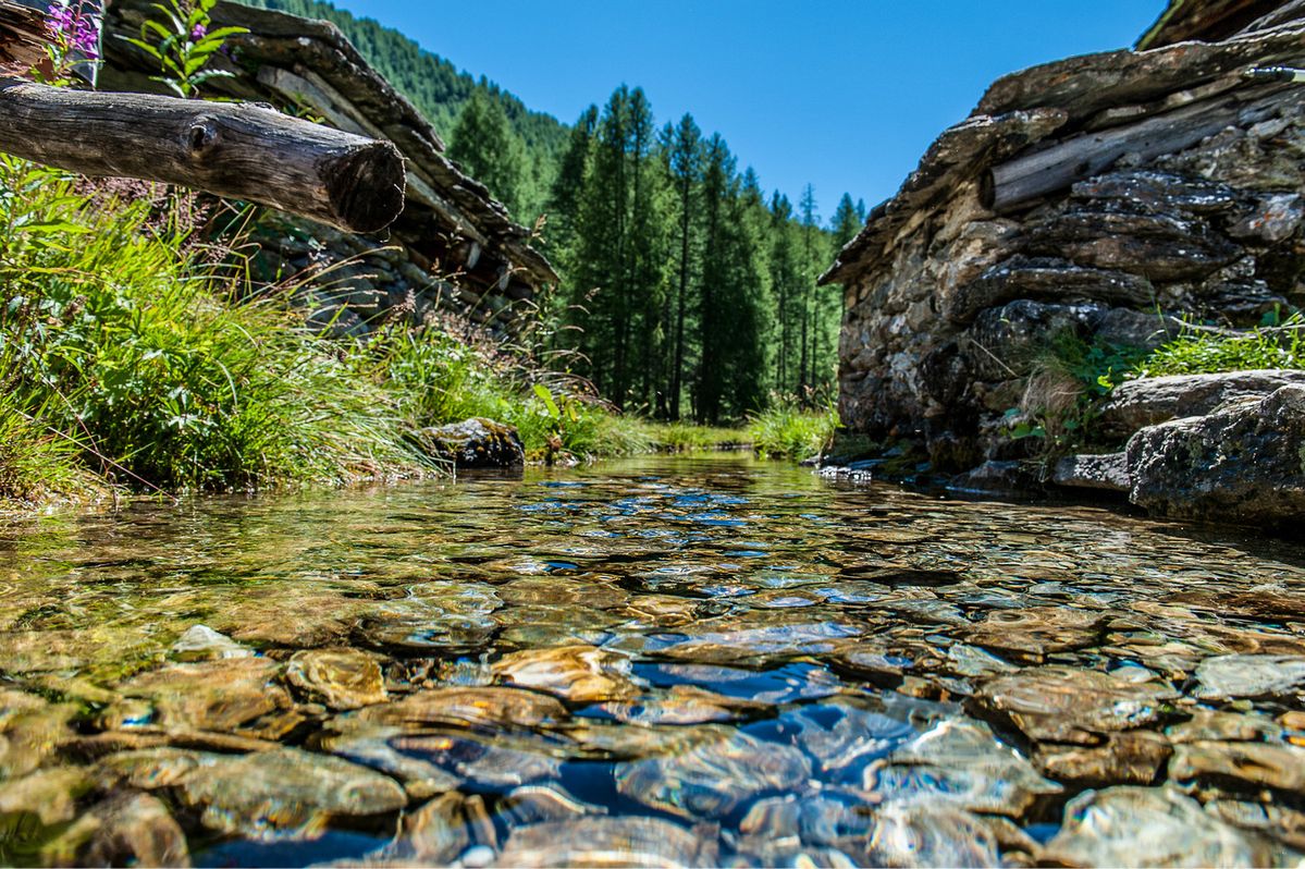
[[[994,678],[975,701],[984,710],[1007,715],[1030,739],[1092,744],[1101,733],[1155,722],[1164,705],[1177,697],[1168,685],[1052,665]]]

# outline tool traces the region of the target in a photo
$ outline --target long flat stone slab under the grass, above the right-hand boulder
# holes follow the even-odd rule
[[[1101,425],[1128,436],[1174,418],[1203,416],[1233,399],[1263,398],[1288,385],[1305,386],[1305,371],[1270,368],[1130,380],[1111,393],[1101,408]]]

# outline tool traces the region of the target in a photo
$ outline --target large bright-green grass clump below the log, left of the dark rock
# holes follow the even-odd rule
[[[420,470],[385,390],[235,290],[150,204],[0,159],[0,376],[90,466],[167,489]]]

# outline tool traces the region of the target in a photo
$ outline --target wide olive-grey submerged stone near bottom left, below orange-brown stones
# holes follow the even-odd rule
[[[180,783],[204,825],[251,839],[317,838],[333,818],[398,812],[394,779],[337,757],[299,749],[222,758]]]

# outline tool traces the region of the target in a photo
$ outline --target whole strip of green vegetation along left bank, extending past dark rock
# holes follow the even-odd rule
[[[536,454],[647,448],[565,382],[545,401],[545,374],[502,348],[315,334],[294,287],[251,295],[228,251],[177,228],[189,204],[0,158],[0,498],[86,491],[86,471],[150,489],[420,475],[437,466],[414,432],[475,415]]]

